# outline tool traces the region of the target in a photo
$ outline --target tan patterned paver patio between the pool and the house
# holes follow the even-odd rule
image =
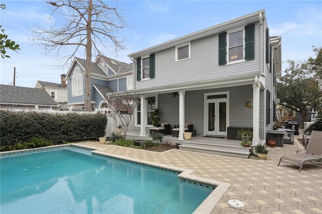
[[[230,183],[211,213],[322,213],[322,164],[299,167],[282,163],[284,154],[303,148],[295,136],[294,145],[269,149],[267,160],[234,158],[172,149],[151,152],[99,142],[83,142],[102,152],[195,170],[195,175]],[[78,145],[79,145],[78,144]],[[245,206],[230,207],[230,199]]]

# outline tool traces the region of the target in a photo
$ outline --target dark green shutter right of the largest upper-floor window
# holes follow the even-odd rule
[[[255,24],[245,26],[245,60],[255,58]]]

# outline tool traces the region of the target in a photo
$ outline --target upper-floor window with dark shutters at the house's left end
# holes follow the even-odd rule
[[[155,55],[139,57],[136,59],[136,80],[153,79],[155,69]]]

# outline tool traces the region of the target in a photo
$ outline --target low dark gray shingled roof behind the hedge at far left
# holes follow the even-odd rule
[[[44,89],[2,84],[0,104],[57,106],[57,102]]]

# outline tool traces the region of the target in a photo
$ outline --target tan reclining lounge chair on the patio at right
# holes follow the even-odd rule
[[[281,162],[297,165],[300,167],[300,172],[304,163],[313,161],[322,163],[322,131],[312,131],[305,154],[298,154],[299,150],[304,149],[296,150],[294,155],[283,155],[278,166]]]

